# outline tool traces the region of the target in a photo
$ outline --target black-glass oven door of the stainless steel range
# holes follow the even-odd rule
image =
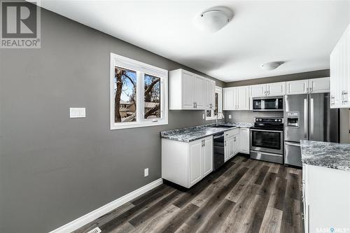
[[[251,150],[283,155],[283,131],[251,129]]]

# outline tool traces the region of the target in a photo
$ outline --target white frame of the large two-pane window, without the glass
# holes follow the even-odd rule
[[[137,111],[135,122],[114,122],[114,76],[115,67],[137,71]],[[168,125],[168,71],[144,62],[116,55],[111,52],[110,73],[110,120],[111,129],[129,129],[155,125]],[[144,73],[160,78],[160,118],[144,119]]]

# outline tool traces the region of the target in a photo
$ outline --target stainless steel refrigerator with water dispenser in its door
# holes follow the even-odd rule
[[[284,164],[302,167],[300,140],[339,142],[339,111],[330,109],[330,94],[284,97]]]

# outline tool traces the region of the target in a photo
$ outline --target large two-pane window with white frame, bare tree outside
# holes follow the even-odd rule
[[[111,53],[111,129],[167,125],[167,71]]]

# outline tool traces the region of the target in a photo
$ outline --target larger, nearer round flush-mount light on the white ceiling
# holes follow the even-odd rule
[[[225,7],[205,10],[195,18],[195,26],[200,31],[214,33],[225,27],[232,18],[232,11]]]

